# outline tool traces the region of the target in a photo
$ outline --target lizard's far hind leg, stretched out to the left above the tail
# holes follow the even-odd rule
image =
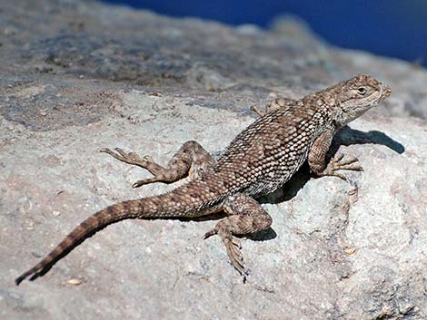
[[[134,152],[125,152],[120,148],[115,148],[115,151],[104,148],[100,151],[117,160],[144,168],[154,175],[152,178],[136,181],[132,185],[133,188],[153,182],[172,183],[186,176],[195,179],[205,170],[209,170],[215,162],[214,157],[196,141],[185,142],[166,167],[156,163],[150,156],[140,157]]]

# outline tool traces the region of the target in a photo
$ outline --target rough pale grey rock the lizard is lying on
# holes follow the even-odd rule
[[[0,318],[427,317],[425,70],[331,48],[292,19],[265,32],[92,2],[1,0],[0,34]],[[147,172],[101,147],[218,153],[249,106],[354,73],[393,89],[334,141],[364,172],[303,168],[261,199],[273,228],[243,240],[246,284],[220,239],[201,239],[216,221],[132,220],[14,285],[94,211],[174,187],[131,189]]]

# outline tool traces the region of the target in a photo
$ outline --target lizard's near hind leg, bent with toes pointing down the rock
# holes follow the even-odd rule
[[[240,241],[234,236],[262,231],[269,228],[273,220],[258,202],[244,194],[237,194],[227,199],[223,210],[229,217],[220,220],[215,228],[206,232],[204,238],[220,236],[233,267],[245,278],[247,272],[240,250]]]

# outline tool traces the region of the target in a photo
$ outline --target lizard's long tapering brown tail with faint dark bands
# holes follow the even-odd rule
[[[185,188],[182,191],[185,191]],[[59,259],[65,257],[74,247],[82,243],[85,238],[91,237],[96,231],[114,222],[129,218],[179,218],[180,216],[196,217],[201,215],[197,213],[197,210],[193,210],[194,205],[197,206],[197,202],[201,201],[201,199],[193,199],[190,202],[185,201],[183,197],[180,197],[180,193],[176,194],[173,191],[156,197],[124,201],[94,213],[93,216],[86,218],[79,226],[74,228],[35,267],[18,276],[15,279],[16,286],[28,276],[31,276],[30,280],[34,280],[36,277],[44,275]],[[203,205],[203,202],[201,201],[200,205]]]

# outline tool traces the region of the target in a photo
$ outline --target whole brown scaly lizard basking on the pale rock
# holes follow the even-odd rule
[[[86,218],[35,267],[15,279],[34,280],[97,230],[129,218],[197,218],[223,211],[225,218],[206,232],[218,235],[233,267],[246,276],[240,241],[244,236],[270,228],[272,217],[256,198],[279,189],[308,161],[316,177],[345,179],[338,170],[362,170],[357,159],[343,155],[326,163],[334,134],[350,121],[384,101],[391,88],[370,75],[358,74],[302,99],[273,103],[267,112],[238,134],[215,160],[196,141],[187,141],[166,167],[152,157],[134,152],[102,149],[117,160],[152,173],[133,187],[149,183],[189,180],[169,192],[127,200],[104,208]],[[275,107],[274,107],[275,105]]]

